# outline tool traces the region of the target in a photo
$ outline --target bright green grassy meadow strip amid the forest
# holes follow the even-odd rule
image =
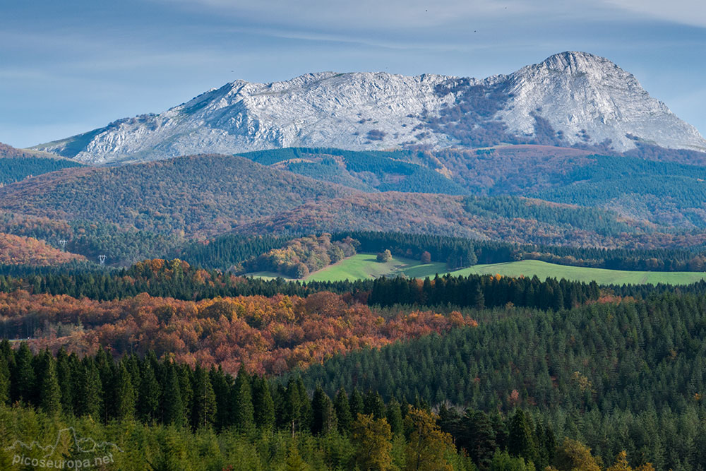
[[[402,275],[409,278],[433,278],[436,274],[447,273],[445,263],[420,263],[418,260],[404,257],[393,257],[387,263],[376,261],[374,254],[357,254],[346,258],[335,265],[312,273],[305,281],[339,281],[339,280],[365,280],[380,276]],[[556,265],[538,260],[522,260],[518,262],[493,263],[490,265],[476,265],[451,272],[452,275],[495,275],[520,276],[524,275],[544,280],[546,278],[566,278],[567,280],[591,282],[600,285],[640,285],[645,283],[666,283],[669,285],[688,285],[706,278],[706,273],[701,272],[649,272],[649,271],[623,271],[604,270],[603,268],[581,268],[573,266]],[[249,276],[261,278],[276,278],[277,273],[259,272],[250,273]]]

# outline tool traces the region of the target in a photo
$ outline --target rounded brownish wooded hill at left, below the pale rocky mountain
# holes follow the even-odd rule
[[[0,208],[161,233],[220,234],[307,201],[351,193],[243,157],[202,155],[40,175],[0,188]]]

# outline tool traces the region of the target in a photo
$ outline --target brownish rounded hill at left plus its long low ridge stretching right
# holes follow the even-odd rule
[[[197,238],[232,230],[367,229],[616,246],[629,243],[626,234],[654,232],[652,225],[618,221],[599,209],[523,198],[364,193],[224,155],[64,169],[0,188],[0,209]]]

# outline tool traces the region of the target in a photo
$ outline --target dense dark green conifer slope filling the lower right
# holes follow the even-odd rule
[[[571,311],[495,311],[477,328],[352,352],[304,372],[333,394],[429,401],[489,414],[527,407],[557,436],[585,441],[609,463],[701,469],[706,302],[666,295]],[[454,427],[458,417],[448,417]],[[487,419],[486,419],[487,420]]]

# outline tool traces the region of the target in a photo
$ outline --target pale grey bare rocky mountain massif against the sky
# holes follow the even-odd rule
[[[645,141],[706,150],[698,131],[608,59],[564,52],[482,81],[424,74],[311,73],[235,81],[160,114],[35,148],[93,163],[282,147],[375,150],[498,143]]]

